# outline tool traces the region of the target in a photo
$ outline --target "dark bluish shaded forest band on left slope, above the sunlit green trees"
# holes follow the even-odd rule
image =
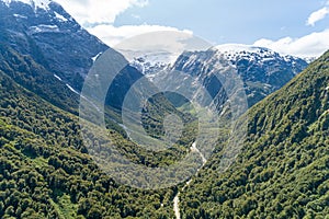
[[[52,72],[35,62],[31,56],[23,56],[0,43],[0,71],[10,76],[30,91],[54,105],[76,113],[79,95],[58,81]]]

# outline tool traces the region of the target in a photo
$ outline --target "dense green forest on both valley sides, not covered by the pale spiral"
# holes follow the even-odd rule
[[[65,84],[31,57],[0,50],[0,218],[174,217],[178,187],[136,189],[104,174],[83,146],[77,102]],[[186,125],[178,145],[164,152],[137,147],[111,122],[120,118],[110,107],[109,136],[135,163],[170,165],[195,138],[195,110],[182,102],[190,113],[178,112],[162,95],[149,102],[145,129],[161,138],[164,112],[174,113]],[[242,153],[220,173],[225,143],[218,140],[216,153],[181,192],[182,218],[328,216],[329,53],[241,120],[248,123]]]

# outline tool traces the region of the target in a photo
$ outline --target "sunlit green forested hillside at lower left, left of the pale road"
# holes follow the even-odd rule
[[[138,162],[166,157],[129,153]],[[169,218],[173,189],[139,191],[116,184],[82,145],[79,119],[18,85],[0,71],[0,218]],[[171,152],[175,158],[177,151]]]

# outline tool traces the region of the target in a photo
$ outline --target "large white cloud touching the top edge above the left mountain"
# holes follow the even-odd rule
[[[56,0],[81,25],[113,23],[131,7],[146,7],[148,0]]]

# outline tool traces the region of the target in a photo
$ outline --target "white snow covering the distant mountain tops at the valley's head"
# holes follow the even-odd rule
[[[209,48],[208,51],[213,53],[205,53],[203,55],[205,60],[211,59],[211,57],[214,56],[214,53],[215,56],[218,57],[218,59],[224,58],[232,62],[243,59],[250,62],[257,61],[257,64],[259,65],[263,65],[270,61],[284,61],[291,62],[292,65],[297,65],[298,59],[294,56],[281,55],[269,48],[243,44],[223,44]],[[159,71],[174,66],[180,55],[182,54],[171,54],[163,50],[151,50],[145,53],[141,51],[140,54],[136,53],[132,55],[134,58],[128,60],[131,61],[132,66],[136,67],[151,80],[157,76],[157,73],[159,73]],[[209,57],[206,58],[205,56]],[[195,54],[190,55],[190,57],[184,62],[184,67],[195,64],[198,58],[200,57]]]

